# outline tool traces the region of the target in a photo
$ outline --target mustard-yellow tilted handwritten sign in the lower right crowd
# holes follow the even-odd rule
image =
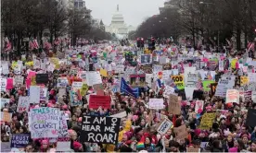
[[[215,120],[215,113],[204,113],[199,128],[209,130]]]

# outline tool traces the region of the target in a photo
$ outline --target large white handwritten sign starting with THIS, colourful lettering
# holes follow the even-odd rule
[[[58,137],[59,109],[41,107],[29,112],[29,127],[32,138]]]

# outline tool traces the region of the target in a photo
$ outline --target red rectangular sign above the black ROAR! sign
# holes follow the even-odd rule
[[[98,109],[101,106],[103,109],[110,109],[110,101],[110,96],[90,95],[89,108]]]

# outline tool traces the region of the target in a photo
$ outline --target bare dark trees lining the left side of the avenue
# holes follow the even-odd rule
[[[43,31],[49,30],[49,41],[64,35],[76,38],[91,38],[99,35],[101,39],[111,39],[109,33],[101,29],[91,29],[90,18],[86,18],[85,8],[75,9],[62,0],[2,0],[2,33],[20,49],[23,38],[37,37],[42,44]]]

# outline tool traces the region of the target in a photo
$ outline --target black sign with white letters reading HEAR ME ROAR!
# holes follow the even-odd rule
[[[121,119],[115,117],[83,116],[82,142],[117,144]]]

